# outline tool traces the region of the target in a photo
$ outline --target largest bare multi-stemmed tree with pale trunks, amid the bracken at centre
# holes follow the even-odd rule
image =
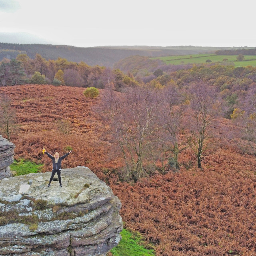
[[[112,85],[112,86],[111,86]],[[128,174],[136,182],[143,172],[143,161],[156,141],[160,129],[157,114],[162,97],[146,87],[127,88],[124,93],[114,91],[109,82],[104,98],[108,106],[110,126],[118,143]]]

